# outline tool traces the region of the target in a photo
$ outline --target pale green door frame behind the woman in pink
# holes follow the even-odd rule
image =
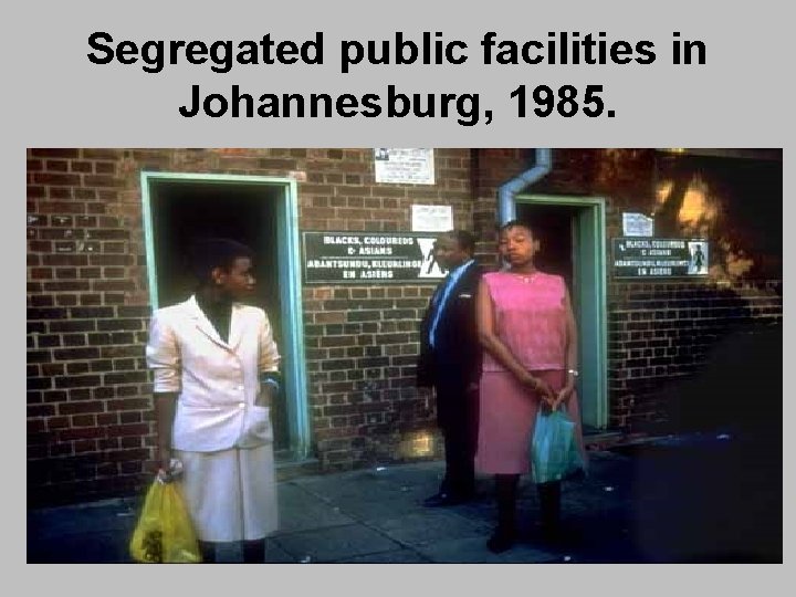
[[[585,426],[604,430],[608,426],[605,199],[517,195],[516,202],[577,208],[573,255],[577,283],[573,303],[578,316],[580,415]]]

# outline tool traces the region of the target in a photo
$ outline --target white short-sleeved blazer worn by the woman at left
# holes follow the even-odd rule
[[[258,307],[233,304],[229,344],[196,296],[159,308],[149,326],[147,365],[155,392],[179,392],[171,447],[214,452],[273,441],[269,408],[256,406],[260,373],[280,362],[271,323]]]

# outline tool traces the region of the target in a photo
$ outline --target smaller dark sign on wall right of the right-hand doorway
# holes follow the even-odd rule
[[[614,277],[708,275],[705,239],[612,239]]]

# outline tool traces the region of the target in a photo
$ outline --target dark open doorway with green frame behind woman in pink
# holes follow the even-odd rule
[[[608,425],[605,201],[597,197],[517,196],[516,217],[541,241],[540,270],[562,275],[578,325],[577,391],[584,430]]]

